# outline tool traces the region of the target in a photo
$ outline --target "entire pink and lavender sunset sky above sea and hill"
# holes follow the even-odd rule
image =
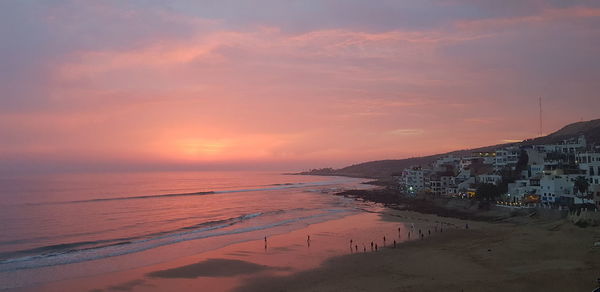
[[[0,171],[342,167],[600,118],[600,1],[0,1]]]

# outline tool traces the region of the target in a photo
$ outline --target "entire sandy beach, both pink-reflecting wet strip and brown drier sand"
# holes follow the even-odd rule
[[[424,239],[415,240],[419,229]],[[381,236],[387,236],[386,248]],[[370,241],[378,251],[371,251]],[[386,209],[268,237],[267,248],[264,240],[244,242],[33,290],[591,291],[600,276],[595,241],[597,228],[565,221],[488,223]]]

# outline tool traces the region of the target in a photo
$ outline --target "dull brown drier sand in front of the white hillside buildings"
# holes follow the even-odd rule
[[[600,230],[564,221],[471,222],[379,253],[337,257],[237,291],[592,291]]]

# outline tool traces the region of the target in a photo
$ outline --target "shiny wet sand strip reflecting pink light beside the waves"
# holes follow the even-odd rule
[[[401,218],[381,220],[377,213],[360,213],[309,225],[263,240],[233,244],[191,257],[128,271],[48,283],[23,291],[232,291],[268,277],[285,277],[318,268],[327,259],[356,253],[371,253],[370,242],[391,246],[397,228],[408,230]],[[404,218],[406,220],[407,218]],[[407,221],[411,222],[411,221]],[[415,228],[430,222],[414,221]],[[310,235],[310,242],[308,236]],[[415,239],[415,237],[413,237]],[[350,240],[353,249],[350,250]],[[358,251],[357,251],[358,249]]]

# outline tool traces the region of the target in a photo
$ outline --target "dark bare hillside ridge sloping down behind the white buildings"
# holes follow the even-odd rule
[[[387,178],[394,174],[400,173],[403,169],[405,169],[407,167],[410,167],[413,165],[429,164],[440,157],[450,155],[450,154],[464,155],[464,154],[469,154],[471,152],[493,151],[495,149],[507,147],[510,145],[552,144],[552,143],[557,143],[557,142],[560,142],[560,141],[568,139],[568,138],[577,137],[581,134],[585,135],[585,137],[588,140],[588,143],[599,145],[600,144],[600,119],[569,124],[550,135],[535,138],[535,139],[525,140],[521,143],[500,144],[500,145],[486,146],[486,147],[480,147],[480,148],[475,148],[475,149],[458,150],[458,151],[453,151],[453,152],[449,152],[449,153],[435,154],[435,155],[423,156],[423,157],[370,161],[370,162],[364,162],[364,163],[347,166],[347,167],[340,168],[340,169],[313,170],[313,171],[309,171],[309,172],[304,172],[303,174],[342,175],[342,176],[368,177],[368,178]]]

